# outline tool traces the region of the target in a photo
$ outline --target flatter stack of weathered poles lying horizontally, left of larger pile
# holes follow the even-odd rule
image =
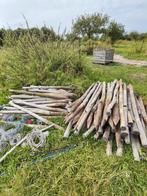
[[[70,86],[27,86],[22,90],[10,90],[13,95],[10,101],[0,110],[5,114],[29,114],[48,124],[54,116],[65,116],[66,105],[72,101],[72,87]]]

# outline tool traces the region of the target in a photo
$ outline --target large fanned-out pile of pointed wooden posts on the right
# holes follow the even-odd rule
[[[140,160],[141,146],[147,147],[147,114],[141,97],[134,93],[132,85],[122,80],[97,82],[75,102],[69,104],[68,123],[64,137],[70,133],[90,134],[95,139],[107,142],[106,153],[112,154],[112,144],[116,143],[116,155],[122,156],[123,145],[132,145],[134,159]]]

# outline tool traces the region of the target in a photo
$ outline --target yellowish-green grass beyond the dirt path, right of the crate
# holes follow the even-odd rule
[[[143,50],[140,53],[135,52],[141,46],[141,42],[134,41],[118,41],[115,45],[115,52],[123,55],[128,59],[147,60],[147,40],[143,45]]]

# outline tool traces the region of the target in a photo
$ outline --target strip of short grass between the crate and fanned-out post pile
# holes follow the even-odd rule
[[[147,67],[136,67],[112,63],[110,65],[92,64],[92,58],[87,57],[88,78],[91,81],[112,81],[122,79],[127,84],[131,83],[136,93],[141,95],[147,103]]]

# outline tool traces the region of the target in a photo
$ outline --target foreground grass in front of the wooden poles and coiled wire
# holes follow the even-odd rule
[[[57,121],[56,121],[57,122]],[[59,120],[58,120],[59,123]],[[62,121],[60,120],[62,124]],[[62,124],[63,125],[63,124]],[[46,146],[32,155],[18,147],[0,165],[0,194],[7,195],[146,195],[146,162],[133,161],[126,146],[123,157],[107,157],[106,143],[50,131]],[[49,160],[42,157],[70,144],[78,146]],[[116,146],[113,146],[116,150]],[[40,160],[33,164],[33,160]]]

